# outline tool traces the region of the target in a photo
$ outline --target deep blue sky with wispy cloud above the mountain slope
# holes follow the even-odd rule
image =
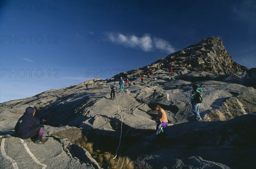
[[[256,1],[2,0],[0,102],[107,79],[209,36],[256,67]]]

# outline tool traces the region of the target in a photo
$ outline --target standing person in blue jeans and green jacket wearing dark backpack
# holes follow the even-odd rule
[[[202,118],[200,116],[200,103],[202,103],[202,95],[203,92],[202,89],[199,89],[197,85],[193,85],[193,90],[191,92],[190,102],[192,104],[192,111],[196,116],[196,119],[198,121],[202,121]]]

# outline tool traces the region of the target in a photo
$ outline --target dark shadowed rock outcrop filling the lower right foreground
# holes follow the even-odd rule
[[[253,169],[256,166],[256,115],[230,121],[191,122],[167,127],[165,147],[154,149],[154,135],[140,140],[125,155],[136,168]]]

